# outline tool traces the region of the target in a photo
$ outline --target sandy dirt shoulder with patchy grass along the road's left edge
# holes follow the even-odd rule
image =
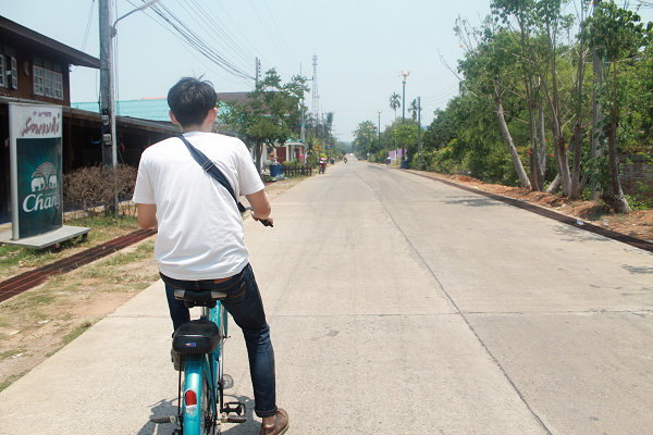
[[[272,183],[266,186],[268,197],[273,201],[303,179]],[[251,217],[246,215],[245,219]],[[0,281],[136,229],[135,225],[116,226],[103,231],[101,237],[91,229],[90,240],[2,266]],[[1,302],[0,390],[159,279],[153,259],[155,240],[156,236],[147,238]]]

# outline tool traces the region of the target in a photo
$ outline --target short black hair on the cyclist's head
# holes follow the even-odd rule
[[[210,82],[184,77],[168,91],[168,105],[182,126],[201,124],[218,96]]]

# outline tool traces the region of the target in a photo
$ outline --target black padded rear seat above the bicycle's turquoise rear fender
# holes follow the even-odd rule
[[[207,319],[192,320],[174,332],[172,349],[183,355],[209,353],[218,348],[221,339],[217,324]]]

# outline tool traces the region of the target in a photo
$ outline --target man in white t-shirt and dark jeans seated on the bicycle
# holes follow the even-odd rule
[[[217,96],[208,82],[182,78],[168,92],[170,119],[184,137],[224,174],[236,198],[245,195],[255,220],[268,220],[271,206],[249,151],[237,138],[213,134]],[[283,434],[287,413],[276,407],[274,352],[261,296],[244,243],[243,219],[234,198],[197,164],[184,142],[169,138],[140,157],[133,201],[138,225],[158,226],[155,257],[165,283],[174,330],[190,320],[175,288],[215,289],[243,330],[261,435]]]

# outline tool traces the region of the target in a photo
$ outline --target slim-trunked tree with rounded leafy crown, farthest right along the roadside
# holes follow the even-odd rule
[[[587,32],[590,46],[606,61],[603,70],[604,86],[599,91],[599,98],[603,100],[602,105],[608,114],[605,136],[608,149],[609,185],[601,198],[616,212],[630,213],[619,181],[617,129],[623,105],[619,65],[638,55],[640,49],[646,45],[653,27],[649,23],[644,28],[637,13],[617,7],[614,1],[603,1],[594,8],[593,16],[588,20]]]

